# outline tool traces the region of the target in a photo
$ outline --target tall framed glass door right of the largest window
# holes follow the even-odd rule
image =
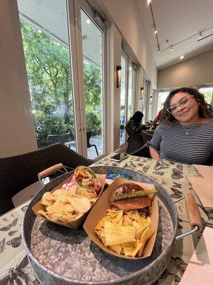
[[[77,55],[82,70],[82,142],[84,155],[101,157],[107,152],[107,100],[105,91],[106,28],[101,16],[86,1],[75,1],[77,11]]]

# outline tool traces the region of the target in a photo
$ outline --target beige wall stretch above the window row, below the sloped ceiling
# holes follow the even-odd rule
[[[157,67],[143,22],[134,0],[98,0],[102,11],[111,18],[130,46],[153,86],[157,86]]]

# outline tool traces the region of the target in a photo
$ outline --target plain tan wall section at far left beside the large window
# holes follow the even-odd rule
[[[37,149],[16,1],[0,1],[0,66],[0,157],[9,157]]]

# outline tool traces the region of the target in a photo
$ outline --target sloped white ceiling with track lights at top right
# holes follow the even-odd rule
[[[135,1],[159,70],[179,63],[182,55],[184,61],[213,50],[213,36],[197,41],[200,31],[202,38],[213,33],[213,0],[152,0],[160,53],[150,6],[147,0]]]

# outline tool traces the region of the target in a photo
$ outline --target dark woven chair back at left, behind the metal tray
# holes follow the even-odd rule
[[[39,172],[58,163],[75,169],[79,165],[89,166],[94,160],[89,160],[60,143],[23,155],[0,158],[0,215],[14,207],[13,196],[38,182]],[[38,192],[42,186],[37,183],[37,187]]]

